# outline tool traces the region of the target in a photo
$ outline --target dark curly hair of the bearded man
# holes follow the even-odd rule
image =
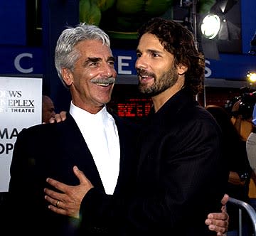
[[[138,40],[144,33],[156,36],[164,49],[174,55],[174,65],[188,67],[185,74],[185,86],[194,95],[201,92],[205,77],[205,59],[196,48],[193,33],[176,21],[164,18],[151,18],[139,28]]]

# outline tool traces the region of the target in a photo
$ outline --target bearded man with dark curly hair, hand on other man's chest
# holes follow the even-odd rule
[[[75,166],[78,186],[47,178],[60,191],[46,188],[49,208],[80,218],[85,229],[115,225],[117,235],[212,235],[203,219],[219,209],[228,169],[220,128],[194,99],[203,55],[187,28],[153,18],[139,30],[135,66],[139,90],[154,107],[139,132],[134,187],[125,196],[107,195]]]

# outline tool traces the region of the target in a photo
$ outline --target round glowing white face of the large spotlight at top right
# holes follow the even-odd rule
[[[201,23],[201,32],[204,37],[213,39],[220,31],[220,17],[215,14],[208,14]]]

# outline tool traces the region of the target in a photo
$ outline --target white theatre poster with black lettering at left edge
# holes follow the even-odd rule
[[[41,123],[42,79],[0,77],[0,193],[7,192],[18,132]]]

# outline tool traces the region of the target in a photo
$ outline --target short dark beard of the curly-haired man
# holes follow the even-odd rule
[[[149,97],[159,95],[161,92],[169,89],[169,87],[174,86],[178,80],[178,73],[176,72],[175,68],[172,67],[170,70],[163,73],[157,80],[155,75],[153,77],[154,84],[151,86],[139,82],[139,92],[142,92],[144,95]]]

